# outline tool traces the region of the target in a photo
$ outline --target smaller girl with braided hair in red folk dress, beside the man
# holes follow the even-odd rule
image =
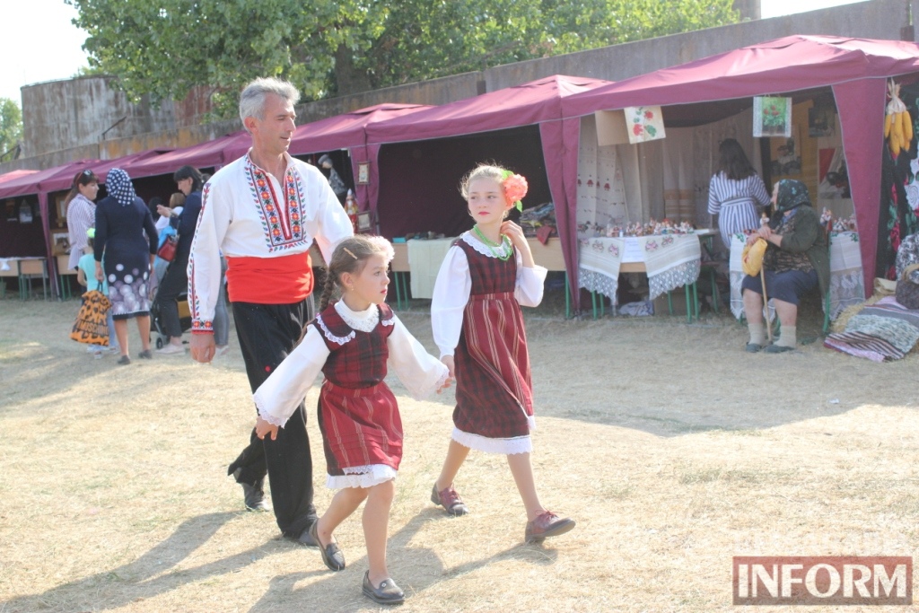
[[[387,367],[416,398],[445,388],[448,369],[414,339],[383,303],[392,246],[380,237],[343,240],[332,255],[320,299],[320,314],[307,326],[301,344],[255,391],[255,432],[272,439],[300,405],[316,376],[319,427],[328,471],[327,485],[338,489],[328,510],[310,528],[323,562],[345,568],[332,536],[335,528],[367,500],[364,538],[369,571],[363,592],[380,604],[403,602],[403,591],[386,568],[386,534],[395,477],[402,460],[403,426],[396,399],[383,382]],[[335,289],[342,299],[329,304]]]

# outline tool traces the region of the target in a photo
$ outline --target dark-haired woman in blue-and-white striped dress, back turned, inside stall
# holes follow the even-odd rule
[[[739,142],[725,139],[718,151],[718,172],[709,182],[709,214],[717,216],[713,219],[721,242],[730,250],[733,233],[759,227],[760,213],[770,197]]]

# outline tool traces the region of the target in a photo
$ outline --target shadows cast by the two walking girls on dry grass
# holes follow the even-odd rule
[[[494,562],[516,560],[531,564],[551,564],[556,561],[557,552],[546,549],[541,545],[525,545],[520,543],[514,547],[497,551],[473,562],[459,564],[453,568],[445,569],[437,553],[428,548],[411,547],[410,543],[418,531],[429,522],[457,521],[445,517],[442,511],[428,508],[414,516],[403,528],[390,535],[388,545],[388,565],[393,579],[405,592],[406,603],[411,603],[411,598],[431,587],[451,581],[463,574],[480,570]],[[362,551],[364,555],[353,561],[347,558],[348,567],[341,573],[327,571],[322,566],[320,553],[312,550],[316,566],[322,567],[321,571],[327,575],[323,581],[297,587],[302,579],[315,573],[289,573],[278,575],[271,579],[268,590],[250,609],[250,613],[272,611],[272,613],[285,613],[287,611],[358,611],[364,609],[378,610],[380,605],[372,602],[361,593],[361,583],[364,579],[363,572],[355,572],[354,567],[366,567],[367,555],[364,543],[355,543],[349,551]],[[411,558],[410,561],[406,558]],[[404,561],[404,562],[403,562]],[[401,571],[404,565],[411,565],[411,576]],[[323,602],[323,599],[327,599]]]

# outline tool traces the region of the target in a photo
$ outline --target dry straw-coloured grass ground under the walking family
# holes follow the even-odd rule
[[[117,367],[66,338],[75,312],[0,301],[0,612],[377,609],[359,589],[359,516],[337,535],[348,568],[329,573],[270,514],[240,510],[226,465],[254,414],[238,350],[212,367]],[[433,348],[424,309],[402,317]],[[728,611],[733,555],[916,549],[914,354],[750,356],[743,327],[717,317],[538,311],[528,333],[540,494],[578,526],[524,545],[505,460],[481,453],[457,482],[471,516],[443,516],[428,496],[452,394],[416,402],[392,381],[406,430],[390,540],[400,610]]]

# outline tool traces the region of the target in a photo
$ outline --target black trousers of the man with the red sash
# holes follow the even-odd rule
[[[245,371],[252,391],[293,350],[312,320],[312,296],[295,304],[254,304],[233,302],[233,320]],[[261,440],[255,428],[249,446],[230,465],[228,474],[241,469],[237,482],[255,483],[268,475],[271,504],[278,528],[285,536],[297,538],[316,520],[312,504],[312,456],[306,432],[303,403],[290,415],[288,423],[278,429],[278,438]]]

